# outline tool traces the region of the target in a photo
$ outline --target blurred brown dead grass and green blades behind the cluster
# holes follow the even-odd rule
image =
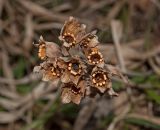
[[[69,16],[97,30],[119,97],[62,104],[55,83],[32,73],[45,40],[60,43]],[[159,0],[0,0],[0,130],[160,130]]]

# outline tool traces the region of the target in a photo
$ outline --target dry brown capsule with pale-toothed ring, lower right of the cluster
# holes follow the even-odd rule
[[[111,80],[105,70],[95,67],[91,73],[92,87],[97,88],[101,93],[112,87]]]

